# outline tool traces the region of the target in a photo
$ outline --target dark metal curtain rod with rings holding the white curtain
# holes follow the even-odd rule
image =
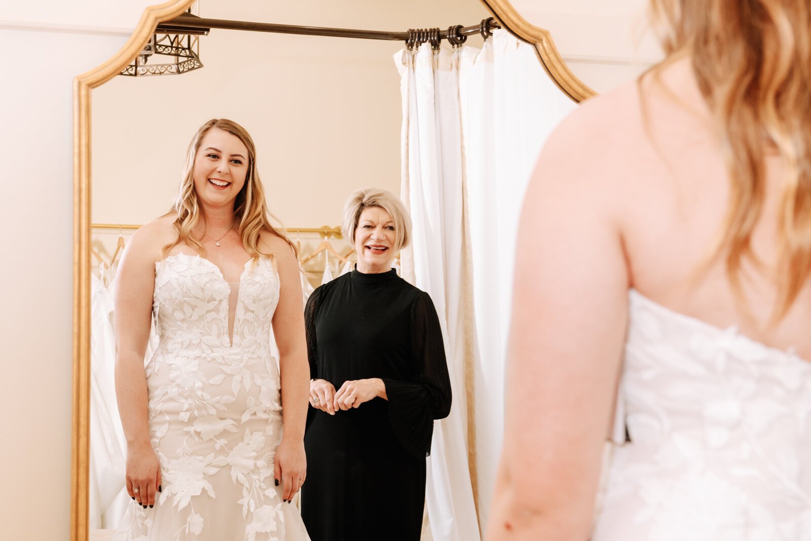
[[[483,19],[480,24],[463,27],[461,24],[452,26],[448,30],[439,28],[410,30],[409,32],[384,32],[379,30],[356,30],[352,28],[324,28],[317,26],[295,26],[292,24],[271,24],[253,23],[238,20],[204,19],[196,15],[178,15],[174,19],[165,21],[157,25],[157,32],[186,32],[197,34],[208,34],[210,28],[221,28],[225,30],[249,30],[253,32],[276,32],[281,34],[301,34],[305,36],[336,36],[336,37],[357,37],[367,40],[389,40],[406,41],[414,39],[417,32],[428,32],[429,30],[439,31],[440,40],[448,40],[452,43],[456,38],[459,43],[465,41],[466,36],[481,33],[483,36],[491,35],[491,29],[501,28],[492,17]],[[191,31],[191,32],[190,32]],[[450,36],[450,39],[448,39]],[[461,40],[460,40],[461,38]],[[422,41],[427,41],[423,39]],[[458,44],[457,44],[458,45]]]

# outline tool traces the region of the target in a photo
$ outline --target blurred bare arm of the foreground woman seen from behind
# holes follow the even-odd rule
[[[489,541],[590,536],[629,276],[615,187],[576,133],[553,135],[521,213]]]

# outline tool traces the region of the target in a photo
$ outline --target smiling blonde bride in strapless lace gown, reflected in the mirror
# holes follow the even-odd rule
[[[270,225],[251,136],[206,122],[174,208],[135,232],[116,277],[132,498],[117,539],[309,539],[289,505],[307,473],[294,252]],[[144,365],[153,320],[160,341]]]

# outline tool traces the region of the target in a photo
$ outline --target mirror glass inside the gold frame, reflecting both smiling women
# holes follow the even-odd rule
[[[361,3],[192,12],[386,30],[430,15],[437,32],[212,29],[202,67],[93,92],[98,539],[442,539],[448,517],[479,539],[503,430],[483,359],[503,358],[515,249],[497,235],[575,104],[530,45],[479,30],[478,2],[376,19]],[[470,337],[466,318],[501,332]]]

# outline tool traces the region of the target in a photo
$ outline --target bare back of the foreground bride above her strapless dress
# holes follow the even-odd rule
[[[616,136],[582,141],[599,156],[603,189],[617,205],[629,268],[629,286],[656,303],[719,328],[811,359],[811,284],[779,324],[769,319],[777,298],[774,271],[781,164],[768,157],[767,193],[753,233],[762,267],[744,261],[740,302],[723,257],[709,261],[727,208],[729,180],[723,149],[688,62],[665,68],[661,82],[634,82],[595,101],[587,117]],[[667,88],[665,88],[667,87]],[[589,118],[581,119],[588,122]],[[704,272],[702,272],[704,269]]]

